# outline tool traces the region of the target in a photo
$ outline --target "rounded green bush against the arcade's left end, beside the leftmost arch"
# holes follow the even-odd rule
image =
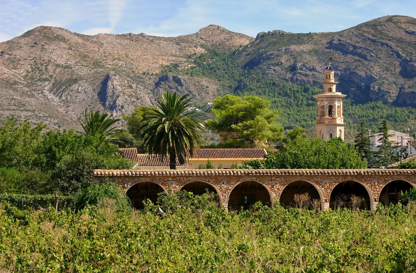
[[[131,209],[130,199],[124,191],[108,180],[104,180],[102,184],[95,184],[79,192],[75,199],[75,208],[77,211],[80,211],[88,205],[97,206],[104,199],[114,199],[117,211],[128,211]]]

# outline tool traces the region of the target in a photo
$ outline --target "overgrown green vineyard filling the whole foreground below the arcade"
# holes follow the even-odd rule
[[[414,209],[313,212],[215,196],[161,194],[134,214],[111,208],[0,208],[0,268],[15,272],[415,272]],[[347,228],[346,228],[347,227]]]

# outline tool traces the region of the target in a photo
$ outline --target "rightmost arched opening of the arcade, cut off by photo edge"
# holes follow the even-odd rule
[[[415,185],[405,179],[394,179],[385,184],[379,194],[379,203],[389,206],[390,203],[397,204],[400,201],[401,191],[415,188]]]

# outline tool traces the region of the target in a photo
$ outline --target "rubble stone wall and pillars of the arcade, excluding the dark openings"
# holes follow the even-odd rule
[[[125,191],[141,182],[153,182],[163,190],[173,192],[193,181],[206,182],[217,191],[220,204],[226,209],[231,191],[244,181],[265,186],[271,204],[291,182],[307,181],[317,189],[322,209],[329,208],[329,197],[337,184],[356,181],[365,187],[370,208],[375,210],[381,190],[389,182],[403,180],[415,187],[416,169],[94,170],[94,182],[100,183],[107,178]]]

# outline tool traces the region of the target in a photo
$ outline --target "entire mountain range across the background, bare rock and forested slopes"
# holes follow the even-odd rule
[[[256,94],[279,110],[285,127],[308,128],[312,95],[331,61],[337,90],[348,95],[350,129],[365,120],[374,130],[384,118],[404,127],[415,119],[415,48],[416,19],[398,15],[339,32],[273,30],[255,39],[216,25],[178,37],[37,27],[0,43],[0,118],[77,127],[86,107],[120,117],[176,90],[197,103]]]

